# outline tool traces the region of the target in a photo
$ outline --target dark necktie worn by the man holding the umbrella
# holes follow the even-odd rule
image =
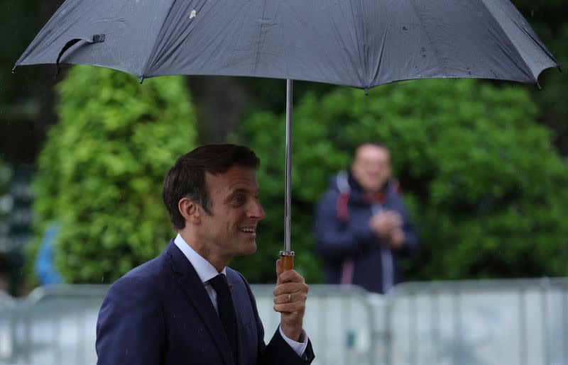
[[[219,318],[225,329],[226,337],[229,339],[233,359],[237,364],[237,348],[236,348],[236,315],[233,306],[233,298],[231,298],[231,291],[229,290],[229,283],[227,283],[226,276],[219,274],[213,279],[209,280],[215,293],[217,293],[217,311]]]

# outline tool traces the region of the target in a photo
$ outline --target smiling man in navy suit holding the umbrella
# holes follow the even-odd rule
[[[256,251],[265,217],[258,164],[252,150],[236,145],[202,146],[178,159],[163,185],[178,235],[109,289],[97,322],[97,364],[311,363],[302,276],[276,263],[281,320],[266,345],[249,283],[226,266]]]

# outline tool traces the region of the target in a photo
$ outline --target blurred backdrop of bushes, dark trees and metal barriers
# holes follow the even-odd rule
[[[54,78],[53,65],[12,74],[60,4],[0,4],[0,364],[94,363],[107,285],[175,235],[165,172],[212,142],[261,157],[258,252],[231,266],[258,284],[265,326],[275,325],[263,284],[275,281],[284,235],[285,81],[140,85],[97,67],[64,66]],[[513,4],[565,68],[564,1]],[[568,76],[549,69],[539,82],[421,80],[368,96],[295,82],[297,270],[322,283],[315,203],[368,140],[391,149],[422,242],[403,262],[410,282],[388,296],[314,285],[306,317],[317,364],[568,364]]]

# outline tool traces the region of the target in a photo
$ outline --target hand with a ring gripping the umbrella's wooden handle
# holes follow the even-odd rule
[[[304,278],[294,270],[282,272],[276,262],[278,281],[274,288],[274,310],[280,313],[280,328],[284,335],[297,342],[302,335],[308,287]]]

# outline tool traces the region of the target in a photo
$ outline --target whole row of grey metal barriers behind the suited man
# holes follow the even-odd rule
[[[95,364],[108,286],[0,293],[0,364]],[[268,341],[272,285],[253,285]],[[568,365],[568,279],[404,283],[390,296],[310,286],[305,322],[315,365]]]

